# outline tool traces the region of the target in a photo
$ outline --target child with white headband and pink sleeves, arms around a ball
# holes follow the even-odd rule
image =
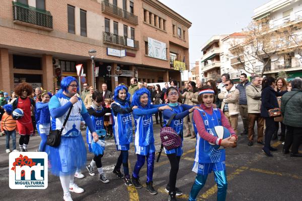
[[[195,182],[192,186],[189,200],[196,200],[199,190],[204,186],[208,174],[213,170],[215,182],[217,183],[217,200],[225,200],[226,181],[225,170],[225,149],[216,149],[212,144],[221,145],[223,147],[235,147],[237,136],[234,129],[225,118],[220,109],[213,108],[214,91],[208,85],[203,86],[198,95],[200,108],[193,113],[193,126],[197,133],[195,147],[195,162],[192,171],[197,173]],[[232,134],[231,137],[223,140],[211,135],[211,128],[214,126],[224,126]]]

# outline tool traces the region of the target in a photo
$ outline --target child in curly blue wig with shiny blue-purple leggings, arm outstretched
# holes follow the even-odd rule
[[[135,153],[137,161],[135,163],[131,182],[136,188],[141,188],[139,181],[139,170],[147,161],[147,180],[146,189],[151,194],[158,192],[153,187],[153,170],[155,159],[155,145],[153,135],[153,119],[152,114],[171,108],[166,105],[152,105],[150,100],[150,92],[146,88],[137,90],[132,97],[132,105],[138,108],[133,109],[134,123],[135,123]]]

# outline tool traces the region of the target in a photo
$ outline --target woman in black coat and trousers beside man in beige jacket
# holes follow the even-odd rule
[[[261,116],[265,118],[265,144],[262,151],[267,156],[273,156],[270,151],[276,151],[276,148],[270,146],[270,141],[276,130],[276,124],[274,117],[269,117],[268,110],[273,108],[279,108],[277,96],[282,96],[287,91],[276,92],[274,90],[276,80],[273,77],[268,77],[262,81],[262,93],[261,93]]]

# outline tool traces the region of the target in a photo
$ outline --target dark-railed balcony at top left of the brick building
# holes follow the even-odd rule
[[[52,31],[50,12],[13,2],[14,23]]]

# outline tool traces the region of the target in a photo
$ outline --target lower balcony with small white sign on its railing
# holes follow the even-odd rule
[[[139,42],[136,40],[128,39],[127,37],[112,34],[110,32],[103,32],[103,43],[114,44],[116,46],[139,49]],[[127,42],[129,41],[129,42]],[[130,42],[133,41],[133,44]]]

